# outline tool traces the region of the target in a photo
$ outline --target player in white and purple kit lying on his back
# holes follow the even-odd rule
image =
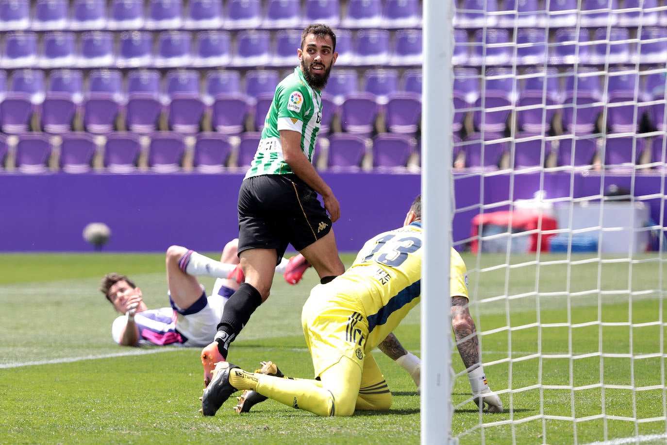
[[[107,274],[100,291],[113,304],[119,316],[113,322],[113,340],[122,346],[209,344],[222,315],[225,302],[243,282],[243,271],[237,267],[237,239],[228,242],[220,261],[213,260],[181,246],[167,249],[167,283],[169,308],[148,309],[139,289],[127,276]],[[290,284],[297,284],[306,267],[301,255],[289,261],[283,258],[275,273],[284,274]],[[217,277],[211,296],[195,276]]]

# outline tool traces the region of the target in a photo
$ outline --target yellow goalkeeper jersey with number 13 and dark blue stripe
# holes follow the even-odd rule
[[[368,318],[370,352],[396,328],[421,300],[422,225],[414,222],[368,240],[354,264],[334,280],[356,294]],[[452,249],[450,296],[468,298],[468,274],[461,256]],[[446,278],[445,271],[442,277]]]

